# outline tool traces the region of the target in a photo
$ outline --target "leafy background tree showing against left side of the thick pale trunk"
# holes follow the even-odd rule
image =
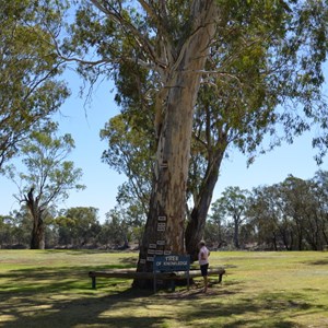
[[[149,124],[140,122],[140,115],[129,113],[115,116],[101,130],[101,138],[108,142],[102,160],[128,178],[119,187],[118,203],[140,207],[143,215],[149,211],[154,145],[147,129]]]

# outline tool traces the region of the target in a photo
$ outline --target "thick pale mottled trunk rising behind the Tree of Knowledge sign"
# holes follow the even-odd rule
[[[215,1],[194,1],[192,33],[172,63],[165,85],[150,211],[140,247],[138,271],[152,271],[154,255],[184,254],[186,185],[194,107],[201,70],[215,33]],[[149,285],[134,280],[134,286]]]

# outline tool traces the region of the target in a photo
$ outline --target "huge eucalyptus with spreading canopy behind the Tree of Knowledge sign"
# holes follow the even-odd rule
[[[302,103],[305,118],[323,119],[326,108],[320,103],[319,86],[327,48],[326,23],[324,1],[81,1],[71,26],[72,37],[59,49],[61,58],[81,62],[81,74],[92,82],[107,73],[124,91],[117,99],[127,105],[125,108],[138,110],[139,104],[140,116],[147,108],[154,115],[156,151],[139,270],[151,270],[154,251],[185,251],[187,179],[197,104],[202,113],[201,103],[197,103],[200,85],[212,85],[209,92],[216,99],[215,106],[208,106],[216,134],[210,134],[214,125],[211,120],[207,129],[201,120],[199,129],[199,136],[207,132],[203,140],[210,142],[202,151],[203,159],[210,160],[209,154],[216,157],[203,166],[199,177],[212,179],[213,188],[226,140],[253,151],[262,132],[279,119],[292,140],[309,128],[298,112],[288,110],[296,101]],[[233,96],[225,98],[229,93]],[[278,105],[286,106],[273,114]],[[250,114],[245,116],[246,109]],[[325,119],[321,122],[325,127]],[[236,129],[243,137],[226,139]],[[257,133],[257,129],[263,131]],[[218,148],[221,153],[214,156],[209,151],[218,140],[223,143]],[[211,173],[215,173],[213,178]],[[203,184],[199,192],[206,188]],[[204,198],[202,213],[210,199],[211,192]],[[199,230],[203,220],[203,215],[199,222],[197,219],[191,232]],[[197,232],[190,238],[198,237]]]

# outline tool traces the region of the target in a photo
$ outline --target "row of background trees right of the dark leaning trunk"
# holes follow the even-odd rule
[[[207,238],[218,247],[321,250],[328,244],[327,172],[308,180],[292,175],[272,186],[224,190],[212,204]],[[211,230],[210,230],[211,229]]]

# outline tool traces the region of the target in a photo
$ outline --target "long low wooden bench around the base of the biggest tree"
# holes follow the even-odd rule
[[[209,269],[209,277],[218,276],[218,282],[222,282],[222,277],[225,273],[224,268]],[[116,269],[116,270],[103,270],[103,271],[90,271],[89,277],[92,279],[92,289],[96,289],[96,278],[124,278],[124,279],[154,279],[153,272],[137,272],[136,268],[132,269]],[[200,278],[200,269],[191,268],[189,270],[189,278]],[[184,271],[176,272],[159,272],[156,279],[159,280],[186,280],[187,273]]]

